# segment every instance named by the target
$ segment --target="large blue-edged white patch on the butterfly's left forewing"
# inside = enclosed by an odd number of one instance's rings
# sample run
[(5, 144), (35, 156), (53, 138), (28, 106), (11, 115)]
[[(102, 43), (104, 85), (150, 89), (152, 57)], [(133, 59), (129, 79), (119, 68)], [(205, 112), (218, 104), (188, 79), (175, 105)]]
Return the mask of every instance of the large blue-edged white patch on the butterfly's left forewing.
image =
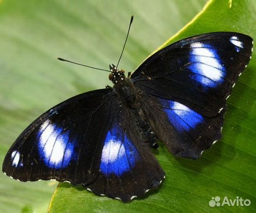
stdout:
[(55, 169), (67, 167), (75, 156), (74, 144), (68, 132), (45, 121), (38, 134), (38, 150), (46, 166)]

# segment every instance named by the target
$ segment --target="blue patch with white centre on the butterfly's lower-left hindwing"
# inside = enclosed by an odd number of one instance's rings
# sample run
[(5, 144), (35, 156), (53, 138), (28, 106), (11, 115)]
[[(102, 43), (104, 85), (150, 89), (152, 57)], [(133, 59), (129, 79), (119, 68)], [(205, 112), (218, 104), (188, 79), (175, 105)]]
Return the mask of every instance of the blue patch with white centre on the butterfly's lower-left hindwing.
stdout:
[(120, 177), (136, 165), (139, 153), (132, 141), (123, 133), (118, 124), (112, 125), (104, 141), (101, 154), (100, 171), (109, 177)]

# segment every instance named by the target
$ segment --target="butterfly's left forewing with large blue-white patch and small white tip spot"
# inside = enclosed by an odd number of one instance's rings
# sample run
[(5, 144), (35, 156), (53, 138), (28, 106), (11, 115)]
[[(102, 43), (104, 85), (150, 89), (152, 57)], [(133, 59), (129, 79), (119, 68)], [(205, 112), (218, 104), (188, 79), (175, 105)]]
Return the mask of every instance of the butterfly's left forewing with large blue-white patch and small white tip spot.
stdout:
[(13, 143), (4, 158), (3, 172), (20, 181), (93, 182), (113, 116), (112, 102), (112, 89), (102, 89), (48, 110)]

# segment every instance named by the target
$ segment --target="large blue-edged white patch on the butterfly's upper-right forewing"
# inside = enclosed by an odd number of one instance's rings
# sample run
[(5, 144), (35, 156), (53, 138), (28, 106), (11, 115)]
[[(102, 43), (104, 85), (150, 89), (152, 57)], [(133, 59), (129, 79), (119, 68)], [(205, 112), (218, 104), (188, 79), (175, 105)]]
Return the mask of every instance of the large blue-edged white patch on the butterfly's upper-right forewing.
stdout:
[(217, 87), (223, 83), (225, 67), (220, 60), (216, 49), (210, 44), (195, 42), (190, 45), (190, 64), (192, 79), (199, 82), (205, 88)]

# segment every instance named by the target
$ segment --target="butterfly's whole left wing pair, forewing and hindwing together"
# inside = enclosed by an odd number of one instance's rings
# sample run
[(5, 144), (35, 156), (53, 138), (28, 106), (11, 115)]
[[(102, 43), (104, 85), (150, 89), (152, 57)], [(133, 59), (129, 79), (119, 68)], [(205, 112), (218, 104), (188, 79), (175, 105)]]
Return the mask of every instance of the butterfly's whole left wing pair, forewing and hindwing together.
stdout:
[(155, 189), (164, 177), (112, 89), (87, 92), (37, 118), (8, 150), (3, 172), (20, 181), (82, 184), (127, 202)]

